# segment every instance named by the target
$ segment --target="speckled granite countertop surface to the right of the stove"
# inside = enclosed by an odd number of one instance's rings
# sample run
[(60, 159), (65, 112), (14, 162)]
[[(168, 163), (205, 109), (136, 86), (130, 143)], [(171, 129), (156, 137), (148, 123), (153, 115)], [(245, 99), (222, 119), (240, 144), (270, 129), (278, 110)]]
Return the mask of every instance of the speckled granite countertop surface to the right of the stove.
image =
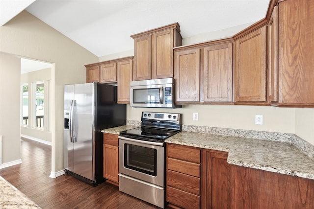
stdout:
[(226, 151), (230, 164), (314, 179), (314, 161), (289, 142), (187, 131), (165, 142)]

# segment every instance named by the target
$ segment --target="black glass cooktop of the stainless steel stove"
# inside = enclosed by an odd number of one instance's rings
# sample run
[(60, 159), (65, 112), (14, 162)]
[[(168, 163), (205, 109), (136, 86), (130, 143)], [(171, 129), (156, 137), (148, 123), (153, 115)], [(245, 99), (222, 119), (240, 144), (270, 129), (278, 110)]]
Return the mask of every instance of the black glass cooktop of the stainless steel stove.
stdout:
[(140, 140), (164, 141), (166, 138), (178, 133), (178, 130), (138, 127), (120, 132), (120, 136)]

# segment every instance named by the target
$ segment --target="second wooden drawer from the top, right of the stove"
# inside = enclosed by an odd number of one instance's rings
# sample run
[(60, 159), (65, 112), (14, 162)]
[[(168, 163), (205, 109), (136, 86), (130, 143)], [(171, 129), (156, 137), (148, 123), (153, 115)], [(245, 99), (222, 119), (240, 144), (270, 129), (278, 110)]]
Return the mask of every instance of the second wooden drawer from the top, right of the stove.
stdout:
[(196, 163), (167, 158), (167, 169), (195, 177), (200, 177), (200, 164)]

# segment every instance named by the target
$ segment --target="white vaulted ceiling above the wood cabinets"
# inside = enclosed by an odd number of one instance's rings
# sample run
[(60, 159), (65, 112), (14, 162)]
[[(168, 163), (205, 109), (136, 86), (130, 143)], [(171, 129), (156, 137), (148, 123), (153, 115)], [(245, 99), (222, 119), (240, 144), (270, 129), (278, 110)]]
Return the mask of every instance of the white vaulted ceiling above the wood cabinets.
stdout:
[[(183, 38), (265, 17), (269, 0), (0, 0), (13, 18), (26, 10), (98, 57), (133, 49), (130, 35), (180, 24)], [(8, 2), (12, 3), (12, 6)], [(21, 11), (19, 11), (21, 10)], [(11, 18), (0, 13), (1, 25)], [(208, 40), (205, 40), (208, 41)]]

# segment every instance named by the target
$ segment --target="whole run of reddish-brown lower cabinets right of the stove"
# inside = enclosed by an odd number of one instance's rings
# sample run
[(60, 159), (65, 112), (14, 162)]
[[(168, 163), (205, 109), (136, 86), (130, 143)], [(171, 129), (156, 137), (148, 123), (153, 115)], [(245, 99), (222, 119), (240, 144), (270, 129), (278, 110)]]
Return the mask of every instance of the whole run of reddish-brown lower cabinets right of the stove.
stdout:
[(227, 163), (227, 152), (166, 145), (166, 201), (183, 209), (314, 209), (314, 180)]

